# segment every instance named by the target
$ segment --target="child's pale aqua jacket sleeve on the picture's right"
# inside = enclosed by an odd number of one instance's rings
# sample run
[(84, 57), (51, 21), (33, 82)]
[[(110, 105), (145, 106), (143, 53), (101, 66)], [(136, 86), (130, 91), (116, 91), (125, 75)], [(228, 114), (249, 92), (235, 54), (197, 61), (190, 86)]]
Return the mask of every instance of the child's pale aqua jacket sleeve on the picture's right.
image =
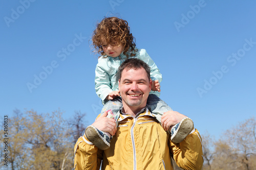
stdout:
[(140, 55), (138, 57), (145, 63), (147, 63), (151, 70), (150, 70), (150, 77), (152, 80), (159, 80), (159, 82), (162, 81), (162, 75), (160, 74), (160, 70), (158, 69), (156, 63), (152, 60), (152, 58), (147, 54), (146, 50), (141, 49)]

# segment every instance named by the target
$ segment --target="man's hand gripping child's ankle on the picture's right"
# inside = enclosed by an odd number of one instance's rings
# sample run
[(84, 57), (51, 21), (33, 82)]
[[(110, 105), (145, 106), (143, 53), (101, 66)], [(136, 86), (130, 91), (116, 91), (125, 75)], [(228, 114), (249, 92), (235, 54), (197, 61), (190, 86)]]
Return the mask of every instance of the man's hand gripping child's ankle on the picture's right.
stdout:
[(187, 117), (177, 111), (164, 112), (161, 118), (162, 127), (165, 131), (169, 130), (174, 125), (178, 124), (184, 117)]

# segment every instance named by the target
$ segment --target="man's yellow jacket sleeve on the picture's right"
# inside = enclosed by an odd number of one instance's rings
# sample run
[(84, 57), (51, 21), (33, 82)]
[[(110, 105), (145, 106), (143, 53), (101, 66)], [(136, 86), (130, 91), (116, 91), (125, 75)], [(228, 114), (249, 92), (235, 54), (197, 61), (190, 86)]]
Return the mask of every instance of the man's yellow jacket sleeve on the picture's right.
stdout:
[(202, 169), (202, 138), (196, 129), (180, 143), (170, 142), (171, 152), (177, 165), (183, 169)]

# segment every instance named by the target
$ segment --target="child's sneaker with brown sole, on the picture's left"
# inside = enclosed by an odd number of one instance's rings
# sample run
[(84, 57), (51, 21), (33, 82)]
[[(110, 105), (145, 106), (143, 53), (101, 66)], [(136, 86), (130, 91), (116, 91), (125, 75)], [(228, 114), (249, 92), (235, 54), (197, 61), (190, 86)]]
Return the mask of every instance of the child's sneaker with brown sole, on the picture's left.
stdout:
[(100, 150), (106, 150), (110, 148), (110, 138), (108, 135), (92, 125), (86, 128), (86, 137)]

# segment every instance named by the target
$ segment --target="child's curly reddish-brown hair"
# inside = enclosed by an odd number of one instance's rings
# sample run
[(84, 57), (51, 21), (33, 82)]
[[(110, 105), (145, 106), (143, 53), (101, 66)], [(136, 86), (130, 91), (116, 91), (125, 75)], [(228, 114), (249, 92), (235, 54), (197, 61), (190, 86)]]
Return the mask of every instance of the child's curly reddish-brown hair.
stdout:
[[(103, 18), (93, 32), (92, 45), (95, 49), (94, 52), (105, 55), (101, 46), (101, 39), (111, 45), (123, 45), (123, 54), (127, 58), (126, 52), (129, 51), (129, 48), (131, 47), (132, 52), (135, 50), (136, 44), (133, 35), (130, 33), (128, 22), (117, 17)], [(131, 56), (135, 56), (135, 54), (131, 54)]]

